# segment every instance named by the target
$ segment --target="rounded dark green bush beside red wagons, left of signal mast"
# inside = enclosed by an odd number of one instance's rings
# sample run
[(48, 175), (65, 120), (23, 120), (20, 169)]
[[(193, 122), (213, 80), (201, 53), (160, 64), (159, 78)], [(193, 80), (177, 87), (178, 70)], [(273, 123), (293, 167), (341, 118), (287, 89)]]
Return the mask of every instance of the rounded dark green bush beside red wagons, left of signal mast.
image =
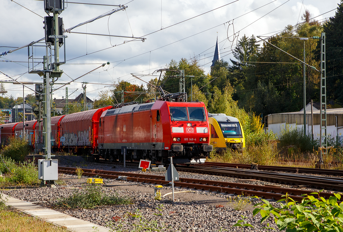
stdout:
[(21, 138), (10, 137), (9, 144), (4, 146), (1, 154), (15, 161), (23, 162), (25, 156), (30, 152), (28, 141)]

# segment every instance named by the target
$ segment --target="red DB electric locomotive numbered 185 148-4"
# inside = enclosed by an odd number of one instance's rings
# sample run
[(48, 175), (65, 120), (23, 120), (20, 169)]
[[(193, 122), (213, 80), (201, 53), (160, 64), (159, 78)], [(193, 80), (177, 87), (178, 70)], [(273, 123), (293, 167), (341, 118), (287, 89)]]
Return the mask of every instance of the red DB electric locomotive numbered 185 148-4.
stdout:
[(104, 111), (99, 119), (99, 155), (105, 159), (149, 159), (204, 163), (212, 151), (203, 102), (131, 103)]

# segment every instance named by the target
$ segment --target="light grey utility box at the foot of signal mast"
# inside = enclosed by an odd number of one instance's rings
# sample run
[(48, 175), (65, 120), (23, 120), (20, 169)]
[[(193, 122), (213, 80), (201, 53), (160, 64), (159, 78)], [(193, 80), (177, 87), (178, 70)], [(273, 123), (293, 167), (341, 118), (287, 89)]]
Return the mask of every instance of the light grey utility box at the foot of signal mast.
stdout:
[(38, 179), (55, 181), (58, 179), (58, 160), (38, 160)]

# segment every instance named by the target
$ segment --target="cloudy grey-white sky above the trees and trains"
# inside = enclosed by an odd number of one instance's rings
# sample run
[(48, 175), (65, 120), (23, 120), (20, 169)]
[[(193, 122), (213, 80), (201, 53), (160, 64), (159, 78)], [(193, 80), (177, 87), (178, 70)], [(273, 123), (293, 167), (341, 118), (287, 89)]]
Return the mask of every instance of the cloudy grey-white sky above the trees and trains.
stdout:
[[(128, 1), (73, 0), (83, 3), (120, 4), (127, 8), (125, 11), (118, 11), (77, 27), (72, 32), (143, 36), (146, 40), (124, 43), (131, 39), (66, 33), (68, 35), (65, 42), (67, 61), (60, 66), (64, 73), (57, 82), (69, 82), (99, 67), (102, 63), (110, 62), (110, 65), (101, 67), (78, 79), (78, 82), (67, 85), (69, 94), (78, 89), (69, 97), (70, 99), (82, 93), (82, 84), (79, 82), (83, 81), (90, 83), (87, 84), (86, 91), (87, 97), (92, 100), (97, 98), (99, 91), (109, 89), (105, 84), (115, 84), (124, 80), (145, 85), (144, 82), (133, 78), (130, 73), (152, 73), (161, 67), (165, 68), (171, 59), (179, 61), (181, 58), (189, 59), (197, 56), (205, 73), (208, 73), (217, 36), (221, 57), (229, 61), (229, 58), (234, 59), (231, 49), (234, 49), (236, 40), (244, 34), (249, 37), (274, 35), (288, 24), (295, 25), (301, 22), (301, 15), (305, 9), (310, 11), (312, 17), (320, 15), (317, 20), (324, 20), (334, 15), (334, 9), (340, 2), (339, 0)], [(59, 15), (63, 19), (64, 28), (70, 28), (116, 9), (113, 6), (73, 3), (68, 3), (66, 6), (67, 8)], [(9, 47), (20, 47), (44, 37), (42, 17), (47, 14), (43, 9), (43, 1), (1, 0), (0, 9), (2, 16), (0, 54), (9, 49), (13, 50)], [(192, 17), (195, 18), (191, 19)], [(176, 23), (179, 24), (174, 25)], [(45, 48), (36, 46), (33, 47), (33, 51), (36, 61), (41, 61), (38, 59), (45, 55)], [(18, 78), (26, 72), (18, 81), (42, 81), (38, 74), (27, 73), (27, 54), (27, 48), (22, 48), (6, 56), (0, 56), (0, 71), (13, 78)], [(60, 61), (63, 60), (62, 50)], [(37, 65), (36, 68), (41, 69), (42, 64)], [(0, 73), (0, 80), (10, 79)], [(150, 77), (145, 77), (143, 80), (148, 81)], [(12, 94), (18, 97), (23, 94), (22, 87), (19, 85), (5, 84), (5, 89), (8, 91), (8, 96)], [(25, 95), (30, 93), (32, 91), (25, 89)], [(62, 98), (62, 96), (65, 96), (64, 87), (55, 91), (53, 97)]]

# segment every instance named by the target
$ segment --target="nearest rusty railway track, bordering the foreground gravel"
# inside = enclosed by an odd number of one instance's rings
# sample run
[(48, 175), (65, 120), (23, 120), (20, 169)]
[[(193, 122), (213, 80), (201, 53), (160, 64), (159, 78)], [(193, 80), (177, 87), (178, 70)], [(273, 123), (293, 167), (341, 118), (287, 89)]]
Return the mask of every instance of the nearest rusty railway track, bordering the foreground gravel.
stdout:
[[(76, 174), (76, 168), (72, 167), (59, 167), (58, 171), (65, 174)], [(161, 184), (166, 185), (169, 181), (165, 181), (164, 176), (149, 175), (142, 173), (127, 173), (127, 172), (114, 172), (114, 171), (102, 171), (102, 170), (90, 170), (83, 169), (83, 176), (101, 176), (103, 178), (116, 179), (119, 176), (127, 176), (128, 181), (149, 183), (149, 184)], [(283, 199), (282, 195), (286, 193), (296, 201), (301, 201), (304, 197), (303, 194), (310, 194), (313, 191), (292, 189), (292, 188), (280, 188), (274, 186), (261, 186), (261, 185), (250, 185), (242, 183), (230, 183), (220, 181), (208, 181), (202, 179), (190, 179), (190, 178), (179, 178), (179, 182), (174, 182), (175, 187), (187, 188), (187, 189), (200, 189), (209, 192), (227, 193), (241, 195), (244, 193), (246, 196), (257, 196), (266, 199)], [(321, 197), (328, 199), (333, 196), (333, 193), (321, 192)]]

